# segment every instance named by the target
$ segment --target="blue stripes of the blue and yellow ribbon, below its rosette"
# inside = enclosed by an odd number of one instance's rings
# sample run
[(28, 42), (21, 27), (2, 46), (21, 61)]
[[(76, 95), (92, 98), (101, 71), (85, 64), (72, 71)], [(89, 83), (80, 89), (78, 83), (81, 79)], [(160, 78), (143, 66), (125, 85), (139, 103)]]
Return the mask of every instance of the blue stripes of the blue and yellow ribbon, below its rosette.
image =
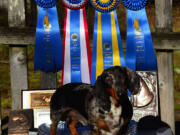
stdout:
[[(116, 15), (114, 12), (115, 29), (118, 40), (119, 56), (121, 66), (125, 66), (124, 54), (122, 49), (122, 42), (120, 36), (120, 30)], [(113, 65), (113, 49), (112, 49), (112, 25), (111, 25), (111, 13), (101, 13), (101, 33), (102, 33), (102, 52), (103, 52), (103, 70), (114, 66)], [(96, 82), (96, 64), (97, 64), (97, 35), (98, 35), (98, 11), (95, 11), (95, 23), (94, 23), (94, 35), (93, 35), (93, 50), (92, 50), (92, 68), (91, 68), (91, 84)]]

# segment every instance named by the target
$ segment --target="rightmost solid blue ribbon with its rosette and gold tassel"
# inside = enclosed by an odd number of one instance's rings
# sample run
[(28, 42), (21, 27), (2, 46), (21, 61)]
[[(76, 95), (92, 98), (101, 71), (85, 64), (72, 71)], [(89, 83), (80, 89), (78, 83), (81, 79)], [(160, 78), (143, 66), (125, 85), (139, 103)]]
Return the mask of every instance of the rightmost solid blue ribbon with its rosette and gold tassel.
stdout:
[(151, 32), (144, 8), (147, 0), (123, 0), (123, 3), (128, 8), (127, 66), (134, 71), (157, 70)]

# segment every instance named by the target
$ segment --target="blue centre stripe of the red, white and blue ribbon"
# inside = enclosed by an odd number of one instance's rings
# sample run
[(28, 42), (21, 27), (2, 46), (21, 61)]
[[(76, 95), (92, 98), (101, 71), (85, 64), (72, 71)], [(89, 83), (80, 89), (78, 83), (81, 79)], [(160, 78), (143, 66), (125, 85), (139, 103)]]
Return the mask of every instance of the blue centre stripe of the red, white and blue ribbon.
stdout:
[(70, 10), (70, 36), (71, 82), (81, 82), (80, 10)]

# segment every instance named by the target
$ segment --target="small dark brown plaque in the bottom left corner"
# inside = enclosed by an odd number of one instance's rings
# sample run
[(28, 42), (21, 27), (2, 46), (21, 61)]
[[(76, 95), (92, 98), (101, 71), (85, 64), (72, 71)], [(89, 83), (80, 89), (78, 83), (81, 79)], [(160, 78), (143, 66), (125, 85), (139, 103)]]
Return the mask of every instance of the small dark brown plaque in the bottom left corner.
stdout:
[(8, 135), (28, 135), (33, 128), (33, 110), (12, 110), (9, 115)]

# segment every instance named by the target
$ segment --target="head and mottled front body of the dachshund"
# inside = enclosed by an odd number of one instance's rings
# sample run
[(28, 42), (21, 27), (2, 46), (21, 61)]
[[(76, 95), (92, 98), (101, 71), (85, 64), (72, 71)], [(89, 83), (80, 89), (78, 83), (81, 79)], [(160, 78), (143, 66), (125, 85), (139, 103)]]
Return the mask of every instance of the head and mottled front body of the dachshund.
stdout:
[(140, 76), (127, 67), (111, 67), (97, 78), (87, 95), (86, 112), (92, 135), (125, 135), (133, 115), (128, 98), (139, 93)]

